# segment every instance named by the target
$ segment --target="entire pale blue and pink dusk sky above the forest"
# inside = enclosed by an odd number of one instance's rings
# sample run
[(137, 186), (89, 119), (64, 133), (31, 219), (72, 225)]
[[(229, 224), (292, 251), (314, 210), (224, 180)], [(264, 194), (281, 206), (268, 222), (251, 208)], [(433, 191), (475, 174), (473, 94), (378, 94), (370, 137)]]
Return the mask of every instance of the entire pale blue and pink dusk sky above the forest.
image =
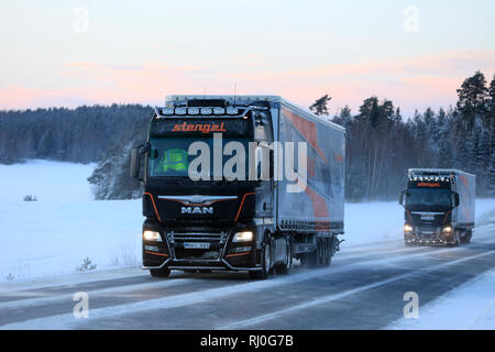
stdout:
[(329, 94), (331, 113), (377, 96), (409, 116), (454, 105), (477, 69), (493, 78), (494, 14), (493, 0), (0, 0), (0, 109), (163, 105), (237, 82), (306, 107)]

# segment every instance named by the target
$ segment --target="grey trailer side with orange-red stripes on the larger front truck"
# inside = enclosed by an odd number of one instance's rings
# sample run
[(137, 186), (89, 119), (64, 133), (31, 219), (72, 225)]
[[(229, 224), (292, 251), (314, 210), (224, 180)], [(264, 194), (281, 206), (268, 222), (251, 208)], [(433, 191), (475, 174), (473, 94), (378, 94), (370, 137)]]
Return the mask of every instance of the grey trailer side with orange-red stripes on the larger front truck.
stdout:
[[(316, 226), (332, 232), (343, 232), (345, 132), (321, 119), (283, 102), (278, 119), (278, 141), (307, 144), (306, 188), (287, 191), (284, 180), (278, 183), (277, 221), (282, 228)], [(295, 156), (297, 165), (297, 153)]]

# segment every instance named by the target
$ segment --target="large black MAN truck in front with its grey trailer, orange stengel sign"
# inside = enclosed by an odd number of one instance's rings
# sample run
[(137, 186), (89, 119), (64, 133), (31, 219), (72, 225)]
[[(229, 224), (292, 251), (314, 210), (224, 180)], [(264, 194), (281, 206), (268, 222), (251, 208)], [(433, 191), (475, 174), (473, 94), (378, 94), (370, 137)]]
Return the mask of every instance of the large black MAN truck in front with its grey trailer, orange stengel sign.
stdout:
[[(144, 139), (144, 136), (143, 136)], [(343, 234), (345, 130), (277, 96), (168, 96), (131, 153), (143, 268), (286, 274)]]

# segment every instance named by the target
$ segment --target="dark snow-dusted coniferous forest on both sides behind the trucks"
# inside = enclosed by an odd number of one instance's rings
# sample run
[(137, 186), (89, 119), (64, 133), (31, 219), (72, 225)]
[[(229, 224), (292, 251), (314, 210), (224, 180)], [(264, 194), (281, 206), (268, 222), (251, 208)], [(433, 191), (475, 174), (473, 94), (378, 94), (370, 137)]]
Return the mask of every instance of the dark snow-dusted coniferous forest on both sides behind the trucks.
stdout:
[[(348, 201), (396, 199), (409, 167), (463, 169), (477, 176), (477, 196), (495, 196), (495, 76), (488, 82), (476, 72), (457, 95), (454, 107), (411, 117), (376, 97), (359, 111), (333, 114), (331, 95), (317, 99), (310, 109), (346, 129)], [(0, 111), (0, 163), (95, 162), (88, 180), (97, 199), (140, 197), (129, 154), (144, 142), (152, 111), (140, 105)]]

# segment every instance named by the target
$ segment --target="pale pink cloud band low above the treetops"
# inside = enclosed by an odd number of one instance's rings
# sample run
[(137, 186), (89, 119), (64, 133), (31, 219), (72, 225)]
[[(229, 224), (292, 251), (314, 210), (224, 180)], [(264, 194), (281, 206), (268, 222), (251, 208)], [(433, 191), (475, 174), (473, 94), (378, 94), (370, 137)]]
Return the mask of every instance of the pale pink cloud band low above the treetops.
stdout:
[[(250, 65), (252, 63), (252, 65)], [(457, 101), (463, 79), (482, 70), (487, 80), (495, 72), (495, 51), (450, 51), (435, 55), (362, 59), (308, 69), (282, 70), (263, 65), (263, 57), (246, 57), (229, 67), (168, 65), (146, 62), (114, 65), (96, 62), (67, 63), (58, 73), (69, 89), (0, 89), (0, 108), (75, 106), (81, 102), (157, 103), (168, 94), (280, 95), (301, 106), (330, 94), (331, 112), (350, 105), (356, 111), (370, 96), (387, 98), (411, 113), (448, 107)]]

